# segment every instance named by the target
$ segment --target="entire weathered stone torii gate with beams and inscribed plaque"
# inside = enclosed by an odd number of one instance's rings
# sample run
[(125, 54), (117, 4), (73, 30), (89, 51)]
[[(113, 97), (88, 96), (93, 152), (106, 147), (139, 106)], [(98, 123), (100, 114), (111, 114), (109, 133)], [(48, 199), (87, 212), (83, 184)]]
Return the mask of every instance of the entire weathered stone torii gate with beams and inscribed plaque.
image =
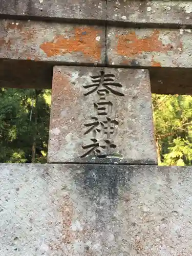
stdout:
[(0, 164), (1, 256), (192, 255), (192, 169), (151, 93), (191, 94), (192, 1), (1, 0), (1, 87), (52, 88), (48, 164)]

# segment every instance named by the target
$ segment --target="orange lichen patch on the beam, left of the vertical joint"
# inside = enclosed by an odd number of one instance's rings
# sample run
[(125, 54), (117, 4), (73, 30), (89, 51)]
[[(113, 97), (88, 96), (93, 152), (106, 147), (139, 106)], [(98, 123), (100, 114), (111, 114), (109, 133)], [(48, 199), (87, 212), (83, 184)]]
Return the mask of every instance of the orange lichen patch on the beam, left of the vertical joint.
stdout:
[(40, 48), (48, 57), (82, 52), (84, 55), (98, 61), (101, 58), (101, 44), (96, 40), (96, 37), (100, 34), (101, 31), (94, 30), (93, 28), (76, 28), (74, 29), (74, 35), (70, 38), (57, 35), (52, 42), (41, 44)]

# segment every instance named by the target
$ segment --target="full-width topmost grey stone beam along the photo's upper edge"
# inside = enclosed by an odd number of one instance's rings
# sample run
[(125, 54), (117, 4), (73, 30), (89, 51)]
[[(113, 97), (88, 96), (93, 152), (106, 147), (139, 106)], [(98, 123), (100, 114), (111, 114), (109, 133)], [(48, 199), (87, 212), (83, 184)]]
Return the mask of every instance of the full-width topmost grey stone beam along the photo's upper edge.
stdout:
[(37, 19), (98, 20), (130, 26), (191, 25), (192, 1), (160, 0), (2, 0), (0, 15)]

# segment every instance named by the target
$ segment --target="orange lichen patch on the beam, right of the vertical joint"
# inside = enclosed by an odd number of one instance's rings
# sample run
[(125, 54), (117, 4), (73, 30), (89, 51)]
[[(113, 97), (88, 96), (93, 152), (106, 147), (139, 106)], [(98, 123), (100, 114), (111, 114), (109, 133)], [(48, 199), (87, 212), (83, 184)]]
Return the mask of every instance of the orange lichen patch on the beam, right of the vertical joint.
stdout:
[(133, 31), (127, 35), (118, 37), (117, 54), (126, 56), (135, 56), (142, 52), (168, 52), (173, 46), (171, 44), (163, 45), (159, 40), (159, 31), (155, 30), (150, 36), (145, 38), (137, 37)]

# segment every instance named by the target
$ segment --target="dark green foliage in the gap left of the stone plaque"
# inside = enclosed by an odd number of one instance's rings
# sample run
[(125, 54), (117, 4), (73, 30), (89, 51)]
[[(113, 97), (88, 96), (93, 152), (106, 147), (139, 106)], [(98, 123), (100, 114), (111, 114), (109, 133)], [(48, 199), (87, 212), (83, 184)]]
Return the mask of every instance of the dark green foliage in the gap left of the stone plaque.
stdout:
[[(37, 100), (38, 99), (38, 100)], [(50, 90), (0, 89), (0, 162), (47, 161)]]

